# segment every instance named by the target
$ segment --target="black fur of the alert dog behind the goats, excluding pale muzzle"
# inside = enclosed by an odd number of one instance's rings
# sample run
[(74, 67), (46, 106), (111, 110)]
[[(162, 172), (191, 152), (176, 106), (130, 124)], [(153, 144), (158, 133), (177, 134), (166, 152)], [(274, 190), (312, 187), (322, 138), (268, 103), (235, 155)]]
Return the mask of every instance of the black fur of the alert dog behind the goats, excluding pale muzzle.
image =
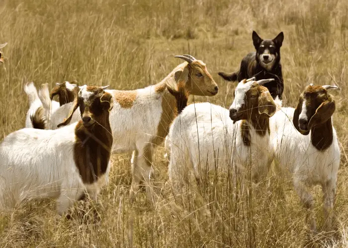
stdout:
[[(284, 84), (280, 64), (280, 47), (283, 40), (283, 32), (280, 32), (273, 40), (262, 40), (261, 37), (253, 31), (253, 43), (256, 52), (249, 53), (243, 58), (239, 71), (232, 73), (220, 71), (218, 74), (225, 80), (238, 82), (243, 79), (252, 78), (253, 76), (256, 77), (256, 80), (274, 78), (274, 81), (265, 83), (263, 86), (267, 87), (273, 99), (275, 99), (276, 96), (281, 99)], [(275, 56), (273, 65), (270, 68), (266, 68), (267, 64), (260, 61), (260, 55), (267, 49), (270, 56)]]

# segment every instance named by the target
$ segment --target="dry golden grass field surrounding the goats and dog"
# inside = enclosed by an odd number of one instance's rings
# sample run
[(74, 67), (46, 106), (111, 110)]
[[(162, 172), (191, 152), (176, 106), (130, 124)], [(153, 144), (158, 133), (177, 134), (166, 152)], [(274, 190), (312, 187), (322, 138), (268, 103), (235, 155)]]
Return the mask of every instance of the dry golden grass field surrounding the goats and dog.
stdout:
[[(332, 94), (342, 152), (338, 231), (314, 239), (307, 236), (299, 197), (274, 173), (270, 186), (253, 185), (249, 195), (236, 197), (228, 179), (218, 179), (174, 199), (161, 146), (154, 158), (162, 194), (156, 204), (147, 203), (143, 191), (129, 204), (130, 154), (113, 156), (110, 183), (93, 205), (98, 219), (82, 202), (74, 212), (90, 212), (72, 220), (56, 214), (54, 201), (26, 202), (1, 215), (0, 247), (348, 247), (347, 0), (1, 0), (0, 17), (0, 44), (8, 42), (0, 65), (0, 140), (24, 127), (27, 81), (136, 89), (159, 82), (182, 62), (174, 55), (205, 62), (219, 86), (216, 96), (195, 101), (229, 107), (235, 84), (217, 72), (237, 69), (254, 51), (256, 30), (262, 38), (284, 32), (283, 105), (295, 107), (309, 83), (341, 88)], [(315, 192), (320, 230), (321, 188)]]

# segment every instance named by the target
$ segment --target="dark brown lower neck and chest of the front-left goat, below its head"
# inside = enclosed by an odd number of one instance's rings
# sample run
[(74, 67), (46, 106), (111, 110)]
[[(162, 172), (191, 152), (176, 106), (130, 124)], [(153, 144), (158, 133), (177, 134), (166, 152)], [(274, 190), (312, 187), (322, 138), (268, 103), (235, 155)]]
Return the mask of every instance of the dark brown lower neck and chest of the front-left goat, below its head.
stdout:
[(87, 130), (80, 121), (75, 127), (74, 161), (84, 184), (92, 184), (104, 175), (110, 159), (112, 134), (110, 124), (96, 124)]

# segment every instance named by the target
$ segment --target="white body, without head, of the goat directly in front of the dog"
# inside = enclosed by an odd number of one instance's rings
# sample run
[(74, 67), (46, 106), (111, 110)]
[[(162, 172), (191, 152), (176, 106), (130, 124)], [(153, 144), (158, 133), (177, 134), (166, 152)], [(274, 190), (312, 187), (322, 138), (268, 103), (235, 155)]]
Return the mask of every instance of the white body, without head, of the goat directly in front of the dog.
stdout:
[[(170, 150), (169, 178), (179, 182), (182, 171), (193, 169), (195, 177), (207, 171), (237, 167), (246, 172), (251, 163), (254, 177), (265, 175), (273, 160), (269, 135), (260, 136), (250, 125), (251, 145), (243, 143), (241, 124), (233, 124), (229, 111), (210, 103), (187, 106), (175, 118), (166, 139)], [(251, 161), (250, 161), (251, 158)]]

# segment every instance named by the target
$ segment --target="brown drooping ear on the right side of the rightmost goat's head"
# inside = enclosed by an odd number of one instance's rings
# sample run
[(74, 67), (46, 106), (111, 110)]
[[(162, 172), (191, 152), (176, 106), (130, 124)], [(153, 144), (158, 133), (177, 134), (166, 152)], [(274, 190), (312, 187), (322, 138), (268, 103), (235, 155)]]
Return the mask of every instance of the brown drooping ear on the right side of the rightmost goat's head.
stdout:
[(328, 100), (326, 100), (319, 106), (319, 108), (315, 111), (315, 114), (312, 116), (311, 120), (309, 120), (308, 129), (310, 130), (317, 124), (325, 123), (334, 114), (335, 109), (335, 100), (332, 97), (329, 97)]

